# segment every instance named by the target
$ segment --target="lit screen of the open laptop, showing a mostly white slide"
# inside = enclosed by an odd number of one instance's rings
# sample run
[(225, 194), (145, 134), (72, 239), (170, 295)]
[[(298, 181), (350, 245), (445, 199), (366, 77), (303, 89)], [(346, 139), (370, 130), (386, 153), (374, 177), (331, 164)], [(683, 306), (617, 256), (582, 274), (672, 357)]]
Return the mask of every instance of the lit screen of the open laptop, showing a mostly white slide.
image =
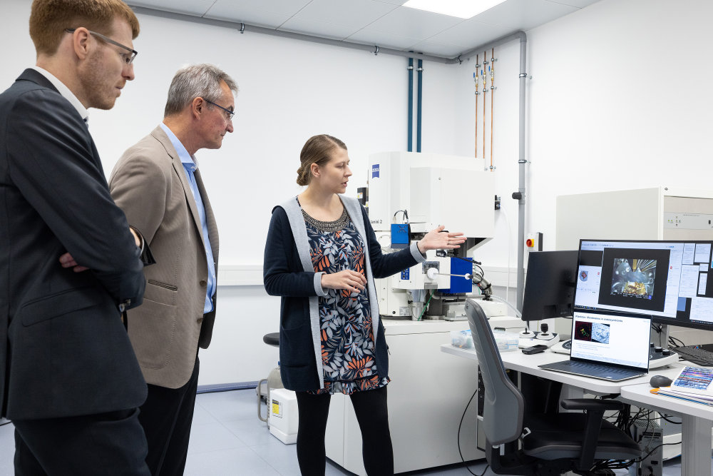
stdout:
[(647, 315), (575, 310), (570, 358), (648, 370), (650, 326)]

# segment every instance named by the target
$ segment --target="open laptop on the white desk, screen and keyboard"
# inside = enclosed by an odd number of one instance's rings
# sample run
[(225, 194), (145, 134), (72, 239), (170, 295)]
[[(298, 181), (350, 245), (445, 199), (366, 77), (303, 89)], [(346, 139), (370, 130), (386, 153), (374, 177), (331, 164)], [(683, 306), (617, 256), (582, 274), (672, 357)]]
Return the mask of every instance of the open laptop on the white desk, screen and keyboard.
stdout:
[(575, 310), (570, 359), (539, 367), (612, 382), (647, 375), (650, 327), (649, 315)]

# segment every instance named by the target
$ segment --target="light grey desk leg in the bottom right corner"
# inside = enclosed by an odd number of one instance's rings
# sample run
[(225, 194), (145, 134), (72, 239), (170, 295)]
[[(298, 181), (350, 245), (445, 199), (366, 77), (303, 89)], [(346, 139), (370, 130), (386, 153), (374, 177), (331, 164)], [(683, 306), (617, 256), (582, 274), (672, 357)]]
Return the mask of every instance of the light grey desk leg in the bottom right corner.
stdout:
[(682, 415), (681, 476), (711, 474), (711, 430), (713, 422)]

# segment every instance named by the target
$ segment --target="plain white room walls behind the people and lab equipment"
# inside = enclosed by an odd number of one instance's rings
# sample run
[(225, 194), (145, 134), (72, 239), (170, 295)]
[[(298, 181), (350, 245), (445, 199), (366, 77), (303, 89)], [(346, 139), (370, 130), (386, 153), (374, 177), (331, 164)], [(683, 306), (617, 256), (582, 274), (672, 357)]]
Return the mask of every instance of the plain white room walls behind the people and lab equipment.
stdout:
[[(0, 7), (6, 37), (13, 39), (2, 87), (34, 59), (29, 3), (4, 0)], [(526, 231), (542, 231), (545, 249), (554, 248), (560, 194), (707, 188), (713, 93), (705, 82), (713, 66), (704, 31), (712, 17), (708, 0), (601, 0), (528, 31)], [(366, 182), (369, 153), (406, 147), (404, 58), (139, 19), (137, 79), (113, 111), (91, 111), (91, 131), (108, 174), (120, 153), (160, 121), (180, 66), (212, 62), (237, 80), (235, 133), (220, 151), (198, 153), (220, 226), (222, 265), (262, 262), (270, 209), (299, 190), (294, 171), (309, 136), (344, 139), (354, 165), (352, 191)], [(503, 210), (496, 239), (476, 253), (486, 267), (505, 268), (508, 256), (512, 268), (516, 263), (517, 202), (510, 196), (518, 188), (518, 56), (516, 41), (496, 49), (493, 159)], [(424, 62), (424, 152), (473, 156), (474, 63)], [(482, 102), (479, 109), (481, 115)], [(488, 144), (489, 130), (488, 122)], [(489, 146), (486, 156), (489, 165)], [(636, 204), (627, 206), (635, 213)], [(222, 286), (213, 343), (201, 352), (200, 383), (267, 375), (277, 350), (263, 344), (262, 335), (277, 330), (278, 312), (279, 300), (261, 286)]]

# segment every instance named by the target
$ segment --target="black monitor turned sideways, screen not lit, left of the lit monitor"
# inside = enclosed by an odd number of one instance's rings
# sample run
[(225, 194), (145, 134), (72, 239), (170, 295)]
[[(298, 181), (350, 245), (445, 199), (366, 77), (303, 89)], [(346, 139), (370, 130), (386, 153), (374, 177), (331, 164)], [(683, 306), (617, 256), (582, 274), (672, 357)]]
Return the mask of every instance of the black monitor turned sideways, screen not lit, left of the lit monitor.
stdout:
[(523, 320), (572, 315), (577, 256), (577, 250), (530, 253), (523, 295)]

